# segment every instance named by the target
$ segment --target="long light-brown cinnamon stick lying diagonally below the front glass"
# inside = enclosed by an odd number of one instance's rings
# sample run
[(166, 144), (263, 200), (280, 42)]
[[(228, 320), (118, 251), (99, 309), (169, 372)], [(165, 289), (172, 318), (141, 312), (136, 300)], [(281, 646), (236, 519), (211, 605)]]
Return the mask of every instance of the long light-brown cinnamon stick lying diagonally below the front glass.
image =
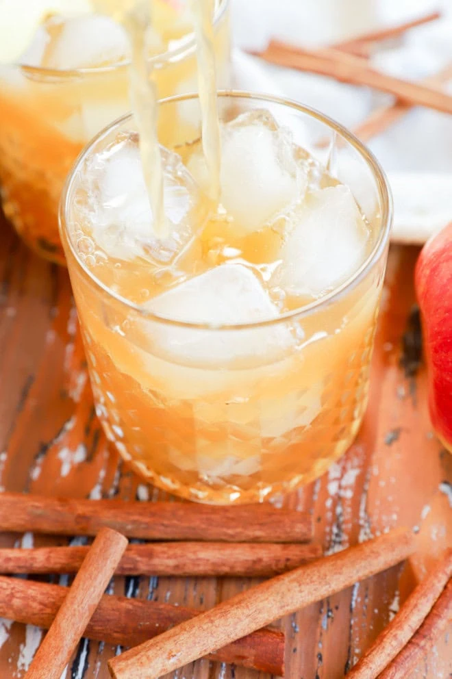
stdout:
[(112, 658), (108, 663), (110, 673), (115, 679), (156, 679), (303, 606), (351, 587), (357, 580), (406, 559), (413, 551), (412, 535), (394, 530), (266, 580), (196, 619)]

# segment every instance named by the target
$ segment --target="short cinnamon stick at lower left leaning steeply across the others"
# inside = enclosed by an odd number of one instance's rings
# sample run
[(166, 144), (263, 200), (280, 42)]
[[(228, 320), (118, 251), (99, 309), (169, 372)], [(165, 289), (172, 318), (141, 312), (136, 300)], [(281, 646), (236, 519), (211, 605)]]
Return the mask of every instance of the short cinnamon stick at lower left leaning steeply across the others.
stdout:
[(86, 555), (25, 679), (60, 679), (127, 547), (116, 530), (103, 528)]

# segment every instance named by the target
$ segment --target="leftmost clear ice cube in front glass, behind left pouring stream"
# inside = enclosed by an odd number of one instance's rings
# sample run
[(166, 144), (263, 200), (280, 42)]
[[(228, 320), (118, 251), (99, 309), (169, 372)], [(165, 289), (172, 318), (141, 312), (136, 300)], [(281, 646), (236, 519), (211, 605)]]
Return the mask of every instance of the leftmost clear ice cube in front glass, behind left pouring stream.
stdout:
[[(153, 232), (153, 216), (142, 174), (138, 140), (127, 137), (86, 167), (91, 237), (110, 257), (145, 257), (168, 264), (188, 244), (205, 218), (199, 188), (179, 155), (162, 149), (164, 205), (170, 233)], [(90, 182), (90, 175), (92, 181)]]

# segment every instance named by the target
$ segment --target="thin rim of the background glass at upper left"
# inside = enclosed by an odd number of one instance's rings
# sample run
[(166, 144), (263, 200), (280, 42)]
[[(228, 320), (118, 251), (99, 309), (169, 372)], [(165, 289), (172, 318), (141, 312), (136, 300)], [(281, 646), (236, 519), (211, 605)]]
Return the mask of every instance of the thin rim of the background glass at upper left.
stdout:
[[(216, 28), (218, 23), (223, 18), (230, 0), (219, 0), (218, 7), (214, 12), (213, 25)], [(166, 51), (156, 54), (149, 59), (149, 64), (153, 66), (158, 66), (159, 64), (166, 64), (170, 60), (186, 59), (196, 50), (196, 38), (194, 33), (188, 33), (181, 40), (185, 40), (178, 47), (173, 49), (166, 49)], [(27, 64), (20, 64), (18, 62), (12, 62), (11, 66), (16, 68), (21, 68), (25, 73), (29, 75), (42, 75), (46, 77), (59, 77), (59, 78), (75, 78), (84, 75), (99, 75), (102, 73), (112, 73), (119, 68), (128, 68), (130, 65), (130, 60), (124, 60), (123, 62), (116, 62), (116, 64), (108, 64), (108, 66), (86, 66), (84, 68), (46, 68), (45, 66), (27, 66)], [(162, 100), (163, 101), (163, 100)]]

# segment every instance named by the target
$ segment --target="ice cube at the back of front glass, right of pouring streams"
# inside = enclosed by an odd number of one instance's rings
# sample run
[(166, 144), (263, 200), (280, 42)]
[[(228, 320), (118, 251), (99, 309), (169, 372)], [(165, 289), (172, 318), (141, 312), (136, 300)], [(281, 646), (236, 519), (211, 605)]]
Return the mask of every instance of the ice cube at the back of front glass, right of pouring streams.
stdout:
[[(288, 129), (266, 111), (254, 110), (221, 127), (221, 204), (246, 235), (269, 225), (305, 192)], [(201, 188), (206, 170), (201, 149), (188, 168)]]

